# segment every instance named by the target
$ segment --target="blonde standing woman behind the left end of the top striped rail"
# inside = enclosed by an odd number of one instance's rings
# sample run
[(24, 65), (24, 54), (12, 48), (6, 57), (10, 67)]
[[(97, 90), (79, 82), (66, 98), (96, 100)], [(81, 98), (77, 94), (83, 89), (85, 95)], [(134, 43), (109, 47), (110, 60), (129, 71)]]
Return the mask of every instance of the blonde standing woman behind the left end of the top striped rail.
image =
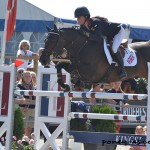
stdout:
[[(30, 71), (23, 72), (22, 80), (19, 81), (17, 87), (20, 88), (20, 90), (34, 90)], [(16, 98), (16, 102), (21, 107), (21, 110), (25, 116), (24, 135), (28, 136), (28, 138), (30, 139), (32, 128), (34, 127), (35, 96), (19, 96)]]

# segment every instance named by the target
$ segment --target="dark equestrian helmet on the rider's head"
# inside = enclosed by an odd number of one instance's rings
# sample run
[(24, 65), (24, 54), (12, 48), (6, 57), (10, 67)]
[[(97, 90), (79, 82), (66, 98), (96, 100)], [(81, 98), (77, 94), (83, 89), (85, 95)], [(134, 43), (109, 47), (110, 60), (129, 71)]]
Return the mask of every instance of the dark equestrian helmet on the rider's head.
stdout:
[(86, 7), (78, 7), (74, 12), (74, 16), (75, 18), (78, 18), (80, 16), (90, 18), (90, 12)]

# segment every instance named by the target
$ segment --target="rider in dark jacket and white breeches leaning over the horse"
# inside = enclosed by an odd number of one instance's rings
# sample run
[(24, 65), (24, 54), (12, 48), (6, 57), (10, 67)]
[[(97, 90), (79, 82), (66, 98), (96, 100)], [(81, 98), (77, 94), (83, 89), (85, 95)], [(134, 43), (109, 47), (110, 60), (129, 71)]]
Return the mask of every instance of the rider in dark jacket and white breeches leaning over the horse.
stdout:
[(108, 22), (106, 18), (101, 19), (101, 17), (90, 18), (90, 12), (86, 7), (76, 8), (74, 16), (77, 18), (82, 33), (87, 36), (89, 40), (98, 41), (100, 43), (102, 36), (113, 38), (112, 50), (121, 68), (120, 78), (126, 78), (127, 73), (124, 68), (123, 58), (118, 50), (125, 34), (125, 30), (121, 24)]

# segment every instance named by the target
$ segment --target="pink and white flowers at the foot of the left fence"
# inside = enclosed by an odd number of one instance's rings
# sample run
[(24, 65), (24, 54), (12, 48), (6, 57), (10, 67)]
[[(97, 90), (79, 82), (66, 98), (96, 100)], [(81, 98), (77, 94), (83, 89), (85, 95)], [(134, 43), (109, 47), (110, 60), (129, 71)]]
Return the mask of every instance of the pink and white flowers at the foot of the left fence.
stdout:
[[(0, 142), (5, 146), (6, 139), (0, 138)], [(27, 136), (24, 136), (22, 140), (17, 140), (16, 136), (13, 136), (11, 150), (34, 150), (34, 140)]]

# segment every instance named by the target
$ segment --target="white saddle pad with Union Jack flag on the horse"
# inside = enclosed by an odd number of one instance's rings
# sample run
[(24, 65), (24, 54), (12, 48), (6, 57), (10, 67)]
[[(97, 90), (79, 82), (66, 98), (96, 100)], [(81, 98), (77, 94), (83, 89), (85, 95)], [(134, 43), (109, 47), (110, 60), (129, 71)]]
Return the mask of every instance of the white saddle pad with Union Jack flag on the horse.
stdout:
[[(107, 48), (106, 39), (104, 39), (104, 51), (109, 64), (114, 63), (110, 55), (109, 49)], [(137, 64), (137, 57), (135, 51), (131, 49), (129, 46), (128, 48), (125, 49), (125, 56), (123, 58), (123, 61), (124, 61), (124, 66), (135, 66)]]

